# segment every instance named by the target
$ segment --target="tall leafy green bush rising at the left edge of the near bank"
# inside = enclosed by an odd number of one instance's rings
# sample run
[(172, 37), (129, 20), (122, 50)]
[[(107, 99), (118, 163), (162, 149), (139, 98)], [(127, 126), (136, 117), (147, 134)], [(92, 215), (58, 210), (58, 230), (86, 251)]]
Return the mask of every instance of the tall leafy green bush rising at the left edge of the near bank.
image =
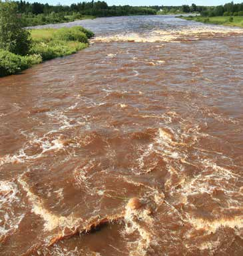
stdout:
[(11, 1), (0, 1), (0, 49), (26, 55), (31, 47), (28, 31), (21, 28), (17, 16), (17, 5)]

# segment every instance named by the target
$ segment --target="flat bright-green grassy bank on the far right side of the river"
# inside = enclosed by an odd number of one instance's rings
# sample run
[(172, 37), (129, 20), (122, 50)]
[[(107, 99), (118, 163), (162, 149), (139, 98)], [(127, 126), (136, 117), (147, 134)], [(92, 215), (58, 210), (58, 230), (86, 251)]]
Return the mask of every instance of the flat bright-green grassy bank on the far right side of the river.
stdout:
[(187, 21), (199, 21), (202, 23), (210, 23), (216, 25), (226, 25), (226, 26), (237, 26), (243, 27), (243, 16), (216, 16), (216, 17), (179, 17), (180, 19), (186, 19)]

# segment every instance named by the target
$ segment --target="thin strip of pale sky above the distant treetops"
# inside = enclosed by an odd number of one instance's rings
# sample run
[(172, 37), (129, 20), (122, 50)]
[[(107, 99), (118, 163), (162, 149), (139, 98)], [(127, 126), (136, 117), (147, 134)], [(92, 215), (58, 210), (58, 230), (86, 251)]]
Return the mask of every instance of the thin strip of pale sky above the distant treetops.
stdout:
[[(39, 3), (49, 3), (51, 5), (56, 5), (61, 3), (61, 5), (71, 5), (71, 3), (80, 3), (83, 1), (91, 0), (26, 0), (29, 2), (39, 2)], [(101, 0), (102, 1), (102, 0)], [(105, 0), (108, 5), (191, 5), (195, 3), (196, 5), (224, 5), (224, 3), (229, 3), (231, 0)], [(242, 3), (243, 0), (236, 0), (234, 3)]]

